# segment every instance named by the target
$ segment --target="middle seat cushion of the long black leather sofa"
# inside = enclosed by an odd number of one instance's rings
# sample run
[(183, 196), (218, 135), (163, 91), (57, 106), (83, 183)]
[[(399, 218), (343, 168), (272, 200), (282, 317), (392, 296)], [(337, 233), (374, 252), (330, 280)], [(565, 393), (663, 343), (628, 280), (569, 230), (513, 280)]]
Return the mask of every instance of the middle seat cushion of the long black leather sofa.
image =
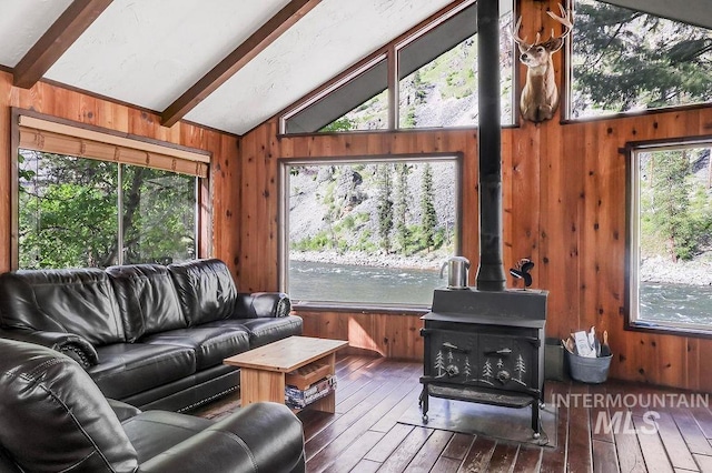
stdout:
[(202, 370), (249, 350), (249, 339), (247, 329), (239, 324), (218, 328), (199, 325), (145, 336), (141, 343), (178, 345), (195, 350), (196, 366)]

